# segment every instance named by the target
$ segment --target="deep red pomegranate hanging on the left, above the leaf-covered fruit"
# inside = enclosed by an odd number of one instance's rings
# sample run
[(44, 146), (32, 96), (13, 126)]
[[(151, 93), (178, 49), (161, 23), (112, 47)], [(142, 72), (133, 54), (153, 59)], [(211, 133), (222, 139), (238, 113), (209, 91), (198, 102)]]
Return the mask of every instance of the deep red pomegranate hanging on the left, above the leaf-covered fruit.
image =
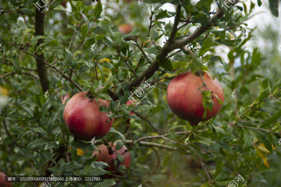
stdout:
[[(110, 101), (97, 98), (100, 105), (109, 106)], [(89, 101), (92, 102), (89, 102)], [(104, 137), (110, 130), (114, 119), (110, 122), (108, 113), (101, 113), (91, 91), (76, 93), (66, 104), (63, 119), (71, 134), (85, 141), (96, 137)], [(107, 122), (108, 123), (107, 123)]]

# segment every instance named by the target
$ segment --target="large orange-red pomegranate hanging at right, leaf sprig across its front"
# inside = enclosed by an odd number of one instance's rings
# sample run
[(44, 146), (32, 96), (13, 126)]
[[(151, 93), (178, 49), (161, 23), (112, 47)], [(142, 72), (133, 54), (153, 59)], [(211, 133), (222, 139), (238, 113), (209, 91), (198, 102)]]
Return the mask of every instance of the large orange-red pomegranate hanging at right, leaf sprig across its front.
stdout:
[[(218, 95), (218, 98), (224, 102), (224, 91), (218, 79), (212, 79), (207, 71), (202, 71), (202, 77), (210, 91)], [(191, 74), (190, 71), (178, 74), (171, 80), (167, 88), (167, 102), (173, 113), (190, 122), (191, 126), (198, 125), (199, 122), (206, 121), (219, 113), (222, 104), (219, 104), (217, 98), (213, 98), (213, 109), (207, 109), (207, 115), (203, 117), (203, 96), (200, 90), (207, 90), (198, 72)], [(200, 87), (202, 86), (202, 87)], [(200, 87), (200, 89), (199, 89)], [(212, 96), (211, 96), (212, 97)]]

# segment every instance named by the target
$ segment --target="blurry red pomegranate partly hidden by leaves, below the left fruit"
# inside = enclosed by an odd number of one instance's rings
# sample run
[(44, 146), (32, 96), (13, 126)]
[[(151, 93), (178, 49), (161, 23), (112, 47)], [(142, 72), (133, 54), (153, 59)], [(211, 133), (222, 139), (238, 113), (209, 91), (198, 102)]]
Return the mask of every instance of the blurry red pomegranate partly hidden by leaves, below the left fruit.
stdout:
[[(130, 162), (131, 162), (131, 155), (130, 155), (129, 151), (124, 153), (124, 151), (127, 150), (127, 147), (123, 146), (121, 149), (116, 151), (116, 149), (115, 149), (116, 144), (117, 144), (116, 142), (113, 143), (113, 146), (111, 146), (111, 142), (108, 142), (108, 144), (111, 147), (113, 154), (110, 154), (110, 151), (107, 149), (107, 147), (104, 144), (101, 144), (100, 146), (97, 147), (99, 150), (101, 150), (101, 154), (99, 154), (99, 151), (94, 151), (92, 153), (92, 157), (96, 155), (98, 162), (102, 161), (102, 162), (107, 163), (110, 166), (110, 168), (106, 167), (104, 169), (106, 171), (115, 171), (119, 165), (125, 165), (126, 168), (128, 168), (130, 166)], [(122, 153), (124, 153), (122, 156), (125, 159), (125, 161), (122, 163), (117, 159), (117, 164), (118, 164), (117, 167), (115, 167), (114, 163), (112, 162), (117, 158), (115, 153), (119, 153), (120, 155), (122, 155)]]

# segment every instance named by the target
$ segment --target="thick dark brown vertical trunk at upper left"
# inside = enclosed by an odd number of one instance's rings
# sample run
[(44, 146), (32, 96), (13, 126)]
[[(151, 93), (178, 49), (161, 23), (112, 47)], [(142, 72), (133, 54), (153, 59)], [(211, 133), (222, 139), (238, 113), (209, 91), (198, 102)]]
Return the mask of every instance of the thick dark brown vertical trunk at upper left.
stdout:
[[(43, 6), (44, 3), (41, 2), (41, 6)], [(43, 7), (44, 8), (44, 7)], [(45, 20), (45, 12), (41, 13), (43, 8), (40, 8), (40, 11), (35, 10), (35, 22), (34, 22), (34, 36), (44, 36), (44, 20)], [(37, 46), (40, 44), (44, 43), (44, 39), (39, 39), (37, 41), (37, 44), (35, 46), (35, 49)], [(41, 55), (35, 54), (39, 59), (45, 60), (44, 54), (42, 53)], [(41, 88), (43, 92), (46, 92), (49, 89), (49, 80), (48, 80), (48, 75), (47, 75), (47, 66), (42, 63), (41, 60), (35, 59), (36, 61), (36, 66), (38, 70), (38, 75), (39, 75), (39, 81), (41, 84)]]

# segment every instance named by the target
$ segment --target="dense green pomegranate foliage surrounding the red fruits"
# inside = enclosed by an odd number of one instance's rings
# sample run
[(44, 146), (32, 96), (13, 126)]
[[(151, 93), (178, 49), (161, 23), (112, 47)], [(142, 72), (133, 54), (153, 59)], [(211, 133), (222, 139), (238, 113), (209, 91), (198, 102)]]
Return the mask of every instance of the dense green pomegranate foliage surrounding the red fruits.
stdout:
[[(44, 36), (35, 30), (34, 22), (41, 13), (34, 6), (36, 0), (0, 2), (2, 172), (112, 176), (114, 172), (104, 170), (107, 164), (96, 162), (91, 154), (98, 150), (97, 144), (117, 141), (119, 147), (126, 144), (131, 153), (130, 168), (118, 167), (122, 176), (103, 183), (65, 182), (57, 187), (141, 183), (219, 187), (238, 174), (249, 186), (280, 182), (265, 173), (280, 170), (276, 155), (281, 151), (277, 148), (281, 79), (267, 79), (262, 68), (267, 59), (258, 48), (245, 48), (253, 37), (245, 23), (253, 14), (253, 2), (248, 9), (241, 2), (230, 13), (231, 8), (218, 9), (210, 0), (144, 0), (139, 5), (136, 1), (72, 0), (67, 9), (62, 2), (56, 0), (42, 13)], [(166, 3), (177, 7), (176, 12), (163, 10)], [(257, 3), (261, 6), (259, 0)], [(277, 0), (269, 5), (278, 16)], [(216, 6), (214, 12), (211, 6)], [(169, 17), (175, 17), (177, 24), (163, 21)], [(133, 25), (130, 33), (119, 32), (124, 24)], [(163, 36), (164, 45), (160, 42)], [(188, 46), (190, 50), (185, 50)], [(224, 49), (227, 58), (218, 48)], [(35, 61), (39, 55), (47, 66), (48, 85), (41, 84), (42, 73)], [(209, 71), (225, 93), (219, 114), (195, 127), (176, 117), (166, 103), (170, 80), (187, 70)], [(131, 93), (145, 80), (153, 90), (146, 89), (149, 94), (139, 98), (137, 107), (127, 106)], [(81, 90), (111, 101), (100, 111), (111, 112), (108, 117), (115, 121), (95, 145), (74, 138), (62, 117), (61, 97)], [(237, 96), (232, 98), (234, 90)], [(213, 106), (210, 95), (211, 90), (198, 96), (205, 98), (206, 111)], [(187, 137), (190, 143), (185, 145)], [(122, 155), (118, 157), (122, 160)]]

